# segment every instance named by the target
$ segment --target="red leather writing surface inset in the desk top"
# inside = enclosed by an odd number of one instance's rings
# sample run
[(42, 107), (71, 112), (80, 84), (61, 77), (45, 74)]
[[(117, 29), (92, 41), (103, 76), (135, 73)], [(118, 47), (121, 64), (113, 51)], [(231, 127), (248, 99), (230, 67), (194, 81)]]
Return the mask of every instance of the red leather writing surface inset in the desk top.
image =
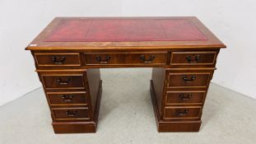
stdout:
[(189, 19), (67, 19), (45, 42), (207, 40)]

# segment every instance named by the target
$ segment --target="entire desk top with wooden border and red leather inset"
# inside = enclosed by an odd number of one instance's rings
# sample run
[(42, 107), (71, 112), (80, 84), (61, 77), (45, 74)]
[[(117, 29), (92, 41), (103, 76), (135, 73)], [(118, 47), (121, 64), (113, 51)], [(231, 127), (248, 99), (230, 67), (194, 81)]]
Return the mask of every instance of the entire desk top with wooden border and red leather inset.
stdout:
[(226, 48), (196, 17), (57, 17), (26, 49)]

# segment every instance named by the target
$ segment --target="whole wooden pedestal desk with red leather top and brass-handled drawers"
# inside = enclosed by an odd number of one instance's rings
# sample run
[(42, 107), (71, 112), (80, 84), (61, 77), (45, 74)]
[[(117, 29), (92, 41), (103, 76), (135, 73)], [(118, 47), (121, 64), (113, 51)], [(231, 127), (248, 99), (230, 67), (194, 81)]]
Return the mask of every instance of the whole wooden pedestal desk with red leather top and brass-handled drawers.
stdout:
[(226, 48), (196, 17), (57, 17), (28, 46), (55, 133), (96, 132), (100, 68), (153, 67), (158, 132), (198, 132)]

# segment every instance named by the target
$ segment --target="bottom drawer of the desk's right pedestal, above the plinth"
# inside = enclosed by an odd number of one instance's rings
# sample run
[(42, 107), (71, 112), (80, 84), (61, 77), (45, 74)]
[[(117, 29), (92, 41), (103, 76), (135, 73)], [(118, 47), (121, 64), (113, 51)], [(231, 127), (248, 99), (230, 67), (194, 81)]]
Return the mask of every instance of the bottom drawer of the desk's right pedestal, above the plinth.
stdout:
[(165, 107), (164, 119), (179, 119), (179, 118), (200, 118), (200, 106), (194, 107)]

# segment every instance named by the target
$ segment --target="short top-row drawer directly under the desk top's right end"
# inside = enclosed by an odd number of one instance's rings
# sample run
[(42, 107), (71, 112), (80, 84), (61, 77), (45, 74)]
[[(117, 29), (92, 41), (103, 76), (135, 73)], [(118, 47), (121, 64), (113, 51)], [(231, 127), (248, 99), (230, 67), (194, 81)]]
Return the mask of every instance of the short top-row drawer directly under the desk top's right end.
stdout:
[(171, 65), (214, 65), (217, 52), (172, 52)]

